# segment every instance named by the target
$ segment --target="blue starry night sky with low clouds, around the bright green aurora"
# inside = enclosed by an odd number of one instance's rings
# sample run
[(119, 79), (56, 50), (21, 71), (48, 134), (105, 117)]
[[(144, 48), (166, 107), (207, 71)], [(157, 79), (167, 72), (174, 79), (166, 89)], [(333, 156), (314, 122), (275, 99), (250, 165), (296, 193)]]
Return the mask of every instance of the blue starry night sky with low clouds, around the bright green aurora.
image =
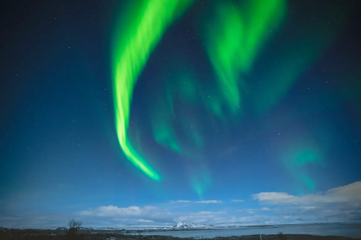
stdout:
[[(174, 103), (204, 140), (195, 149), (181, 135), (191, 154), (179, 154), (156, 142), (150, 109), (180, 62), (202, 86), (216, 78), (196, 27), (213, 3), (196, 1), (168, 28), (133, 93), (130, 139), (160, 182), (135, 168), (117, 140), (110, 38), (124, 5), (116, 2), (32, 1), (2, 10), (0, 225), (58, 226), (70, 217), (88, 226), (361, 220), (358, 1), (327, 8), (288, 1), (286, 20), (245, 76), (240, 116), (224, 122)], [(272, 80), (287, 71), (282, 61), (307, 54), (290, 87)], [(182, 131), (184, 118), (174, 121)], [(201, 196), (194, 178), (208, 179)]]

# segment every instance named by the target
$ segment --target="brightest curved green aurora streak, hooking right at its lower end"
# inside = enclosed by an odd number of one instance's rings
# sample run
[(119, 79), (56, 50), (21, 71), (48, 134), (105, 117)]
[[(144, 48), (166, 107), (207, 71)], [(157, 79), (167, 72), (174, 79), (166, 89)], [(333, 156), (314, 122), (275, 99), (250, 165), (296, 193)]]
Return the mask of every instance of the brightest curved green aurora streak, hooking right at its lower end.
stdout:
[(126, 157), (153, 180), (160, 175), (136, 152), (127, 137), (130, 102), (136, 80), (164, 31), (192, 0), (134, 1), (129, 21), (121, 22), (113, 39), (113, 91), (116, 130)]

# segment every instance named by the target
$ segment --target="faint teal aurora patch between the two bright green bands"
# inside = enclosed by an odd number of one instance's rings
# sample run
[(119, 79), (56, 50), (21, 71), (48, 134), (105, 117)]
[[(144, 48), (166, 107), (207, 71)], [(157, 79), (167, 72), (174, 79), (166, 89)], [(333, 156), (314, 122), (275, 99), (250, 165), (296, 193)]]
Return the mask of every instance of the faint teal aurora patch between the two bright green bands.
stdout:
[[(170, 73), (166, 74), (165, 94), (158, 94), (151, 106), (151, 125), (158, 144), (177, 153), (193, 155), (187, 150), (192, 146), (202, 146), (203, 140), (197, 128), (199, 124), (196, 124), (196, 114), (193, 112), (194, 114), (190, 115), (188, 112), (191, 110), (190, 106), (199, 101), (201, 89), (195, 73), (186, 66), (187, 64), (179, 61)], [(184, 106), (187, 111), (176, 108), (176, 103)], [(175, 126), (177, 120), (180, 122), (179, 128)], [(180, 139), (184, 137), (187, 141), (181, 142)]]

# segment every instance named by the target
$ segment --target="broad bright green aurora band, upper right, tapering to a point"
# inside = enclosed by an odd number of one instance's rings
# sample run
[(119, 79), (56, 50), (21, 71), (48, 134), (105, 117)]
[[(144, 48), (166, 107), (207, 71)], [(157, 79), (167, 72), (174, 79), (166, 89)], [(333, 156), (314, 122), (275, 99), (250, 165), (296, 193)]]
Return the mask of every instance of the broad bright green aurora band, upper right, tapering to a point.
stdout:
[[(239, 90), (242, 74), (249, 72), (265, 40), (280, 25), (286, 12), (284, 0), (235, 2), (215, 5), (215, 14), (208, 14), (210, 23), (203, 33), (219, 88), (233, 114), (239, 112), (242, 104)], [(220, 106), (216, 106), (215, 114), (219, 116)]]

